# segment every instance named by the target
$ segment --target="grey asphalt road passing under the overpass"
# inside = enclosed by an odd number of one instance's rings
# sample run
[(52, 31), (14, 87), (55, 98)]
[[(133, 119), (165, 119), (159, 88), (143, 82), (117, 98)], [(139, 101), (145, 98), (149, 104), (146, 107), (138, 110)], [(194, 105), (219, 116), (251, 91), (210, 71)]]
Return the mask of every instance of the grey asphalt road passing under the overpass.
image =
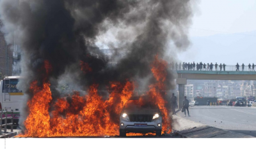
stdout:
[(201, 124), (238, 132), (256, 137), (256, 108), (230, 106), (193, 106), (189, 108), (191, 117), (177, 115)]

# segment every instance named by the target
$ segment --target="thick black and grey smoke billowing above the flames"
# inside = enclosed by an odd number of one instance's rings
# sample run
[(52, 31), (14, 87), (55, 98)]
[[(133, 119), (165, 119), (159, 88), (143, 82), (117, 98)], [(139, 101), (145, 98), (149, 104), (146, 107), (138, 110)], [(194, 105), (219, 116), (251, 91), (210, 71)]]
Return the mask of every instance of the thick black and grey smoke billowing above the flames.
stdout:
[[(22, 48), (18, 87), (28, 95), (30, 83), (40, 85), (45, 77), (53, 99), (64, 84), (86, 90), (96, 83), (104, 90), (109, 82), (129, 79), (145, 88), (141, 80), (152, 82), (156, 55), (170, 62), (175, 59), (166, 55), (170, 47), (188, 48), (192, 5), (189, 0), (1, 0), (1, 31), (9, 43), (15, 33)], [(40, 69), (45, 60), (51, 64), (48, 76)], [(81, 71), (83, 64), (92, 70)], [(175, 88), (174, 79), (168, 70), (168, 90)]]

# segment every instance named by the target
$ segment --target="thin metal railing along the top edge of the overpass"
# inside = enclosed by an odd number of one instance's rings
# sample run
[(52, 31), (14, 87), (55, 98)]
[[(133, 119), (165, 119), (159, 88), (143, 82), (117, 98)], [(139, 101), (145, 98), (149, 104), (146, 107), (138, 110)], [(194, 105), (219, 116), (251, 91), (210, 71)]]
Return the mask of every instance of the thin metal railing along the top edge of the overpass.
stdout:
[[(176, 69), (176, 67), (174, 69)], [(183, 68), (180, 67), (180, 69), (179, 69), (179, 67), (177, 67), (177, 70), (182, 71)], [(188, 70), (188, 69), (185, 69), (185, 70), (193, 71), (194, 69), (192, 68), (191, 70)], [(237, 70), (237, 67), (235, 65), (225, 66), (225, 71), (236, 71), (236, 70)], [(256, 70), (256, 66), (255, 66), (254, 70)], [(254, 71), (254, 70), (252, 69), (252, 66), (250, 67), (250, 69), (249, 69), (249, 66), (244, 66), (244, 69), (243, 69), (243, 67), (241, 65), (239, 65), (239, 71)], [(196, 71), (196, 67), (195, 67), (195, 71)], [(205, 66), (205, 69), (204, 69), (204, 66), (203, 66), (202, 71), (210, 71), (210, 67), (209, 67), (209, 69), (207, 69), (207, 66)], [(212, 71), (220, 71), (220, 66), (218, 66), (217, 69), (215, 69), (215, 66), (213, 66)], [(221, 71), (224, 71), (224, 67), (222, 67)]]

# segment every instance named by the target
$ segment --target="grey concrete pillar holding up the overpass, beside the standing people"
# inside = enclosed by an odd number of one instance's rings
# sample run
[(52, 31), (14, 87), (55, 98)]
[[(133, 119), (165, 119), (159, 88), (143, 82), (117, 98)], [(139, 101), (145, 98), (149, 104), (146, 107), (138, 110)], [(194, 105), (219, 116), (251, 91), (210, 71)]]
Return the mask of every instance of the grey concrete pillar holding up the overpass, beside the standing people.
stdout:
[(185, 95), (185, 85), (187, 84), (187, 78), (177, 78), (176, 80), (177, 84), (179, 85), (179, 93), (177, 96), (178, 99), (178, 108), (182, 108), (182, 101), (184, 99)]

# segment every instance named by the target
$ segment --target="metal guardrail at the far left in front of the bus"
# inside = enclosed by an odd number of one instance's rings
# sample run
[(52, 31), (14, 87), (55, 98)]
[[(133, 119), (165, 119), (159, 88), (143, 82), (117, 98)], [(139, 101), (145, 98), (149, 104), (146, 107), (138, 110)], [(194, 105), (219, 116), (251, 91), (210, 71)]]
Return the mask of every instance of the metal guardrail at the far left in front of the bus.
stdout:
[[(11, 126), (11, 132), (13, 132), (13, 110), (12, 110), (12, 117), (7, 117), (8, 111), (0, 110), (0, 134), (2, 134), (2, 127), (4, 127), (4, 133), (7, 133), (7, 126)], [(4, 114), (5, 113), (5, 114)], [(4, 117), (3, 117), (4, 114)], [(4, 120), (4, 124), (2, 124)], [(11, 123), (7, 123), (7, 120), (11, 120)]]

